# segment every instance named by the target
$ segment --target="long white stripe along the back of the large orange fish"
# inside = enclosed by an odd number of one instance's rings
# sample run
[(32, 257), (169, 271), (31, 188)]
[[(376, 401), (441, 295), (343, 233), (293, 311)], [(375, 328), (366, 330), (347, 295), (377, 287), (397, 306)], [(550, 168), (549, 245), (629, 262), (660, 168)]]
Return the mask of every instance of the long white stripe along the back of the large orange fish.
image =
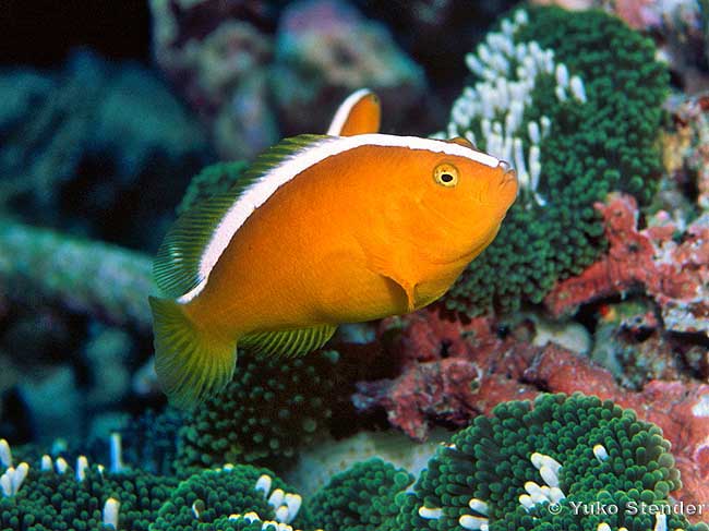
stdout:
[(263, 205), (276, 190), (302, 173), (311, 166), (322, 162), (328, 157), (362, 146), (406, 147), (414, 150), (428, 150), (457, 157), (468, 158), (490, 168), (496, 168), (500, 159), (476, 152), (460, 144), (434, 138), (420, 138), (418, 136), (395, 136), (390, 134), (359, 134), (354, 136), (325, 136), (308, 147), (286, 157), (279, 165), (272, 168), (256, 182), (243, 191), (235, 204), (227, 210), (217, 226), (212, 240), (202, 254), (200, 261), (200, 278), (202, 279), (192, 290), (180, 297), (177, 301), (185, 304), (199, 295), (209, 279), (209, 273), (227, 249), (233, 234), (251, 216)]

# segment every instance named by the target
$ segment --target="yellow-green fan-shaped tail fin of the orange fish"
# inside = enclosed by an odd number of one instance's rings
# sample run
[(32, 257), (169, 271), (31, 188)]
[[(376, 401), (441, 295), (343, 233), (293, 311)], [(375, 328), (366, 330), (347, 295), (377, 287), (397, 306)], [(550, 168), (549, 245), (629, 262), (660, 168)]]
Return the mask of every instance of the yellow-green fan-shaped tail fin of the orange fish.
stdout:
[(233, 376), (233, 339), (203, 329), (170, 299), (148, 298), (155, 330), (155, 372), (178, 408), (190, 408), (223, 389)]

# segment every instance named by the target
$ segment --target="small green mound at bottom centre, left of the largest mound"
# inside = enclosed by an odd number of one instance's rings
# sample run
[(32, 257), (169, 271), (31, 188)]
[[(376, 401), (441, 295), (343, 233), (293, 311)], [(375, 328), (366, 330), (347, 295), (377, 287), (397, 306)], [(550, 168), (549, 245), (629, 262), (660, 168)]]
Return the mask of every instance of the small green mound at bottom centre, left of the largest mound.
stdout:
[(340, 531), (393, 529), (395, 498), (413, 475), (375, 458), (341, 472), (310, 500), (315, 526)]

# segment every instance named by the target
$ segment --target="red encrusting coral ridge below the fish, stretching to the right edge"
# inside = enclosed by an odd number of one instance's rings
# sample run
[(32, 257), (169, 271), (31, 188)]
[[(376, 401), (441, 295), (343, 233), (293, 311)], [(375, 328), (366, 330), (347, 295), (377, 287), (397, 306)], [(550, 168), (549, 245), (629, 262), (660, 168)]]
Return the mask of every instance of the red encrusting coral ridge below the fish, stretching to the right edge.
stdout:
[(505, 335), (497, 326), (491, 317), (461, 324), (433, 311), (385, 319), (381, 337), (400, 330), (388, 346), (400, 375), (358, 384), (354, 406), (383, 408), (392, 425), (421, 441), (430, 422), (465, 426), (507, 400), (533, 399), (541, 391), (597, 395), (663, 430), (682, 471), (677, 499), (709, 499), (709, 385), (651, 381), (630, 391), (585, 355), (552, 342), (532, 346), (527, 323)]

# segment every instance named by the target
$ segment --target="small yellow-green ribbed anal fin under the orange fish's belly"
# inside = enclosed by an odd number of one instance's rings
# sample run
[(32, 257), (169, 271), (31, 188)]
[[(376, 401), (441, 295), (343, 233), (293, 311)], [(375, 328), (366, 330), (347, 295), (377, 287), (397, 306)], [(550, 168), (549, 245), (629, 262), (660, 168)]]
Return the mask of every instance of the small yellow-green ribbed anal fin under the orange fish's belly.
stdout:
[(317, 350), (333, 337), (337, 326), (320, 325), (293, 330), (261, 331), (239, 340), (239, 347), (256, 355), (295, 358)]

